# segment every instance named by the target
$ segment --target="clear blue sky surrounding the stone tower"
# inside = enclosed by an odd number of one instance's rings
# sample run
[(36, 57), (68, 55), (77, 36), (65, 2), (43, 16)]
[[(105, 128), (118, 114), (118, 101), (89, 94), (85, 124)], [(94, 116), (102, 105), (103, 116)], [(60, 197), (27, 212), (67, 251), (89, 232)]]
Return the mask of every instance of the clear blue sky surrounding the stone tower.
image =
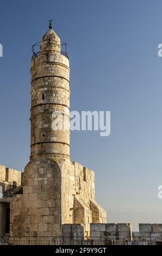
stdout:
[(111, 111), (111, 135), (75, 131), (72, 160), (95, 170), (108, 222), (162, 223), (162, 2), (48, 0), (0, 3), (0, 162), (30, 154), (30, 58), (53, 19), (68, 44), (71, 110)]

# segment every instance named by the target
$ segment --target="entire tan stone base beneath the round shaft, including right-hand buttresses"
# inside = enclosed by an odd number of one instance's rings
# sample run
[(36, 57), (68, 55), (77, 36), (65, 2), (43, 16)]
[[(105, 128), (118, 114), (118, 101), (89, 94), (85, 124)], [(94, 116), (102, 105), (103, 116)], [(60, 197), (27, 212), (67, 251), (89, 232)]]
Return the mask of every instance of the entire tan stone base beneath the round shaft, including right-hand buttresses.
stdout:
[[(76, 166), (80, 167), (79, 171)], [(14, 196), (10, 205), (11, 235), (61, 236), (61, 224), (81, 223), (84, 235), (89, 236), (95, 210), (106, 220), (105, 211), (94, 199), (91, 170), (68, 159), (60, 161), (59, 157), (32, 160), (24, 170), (23, 194)]]

